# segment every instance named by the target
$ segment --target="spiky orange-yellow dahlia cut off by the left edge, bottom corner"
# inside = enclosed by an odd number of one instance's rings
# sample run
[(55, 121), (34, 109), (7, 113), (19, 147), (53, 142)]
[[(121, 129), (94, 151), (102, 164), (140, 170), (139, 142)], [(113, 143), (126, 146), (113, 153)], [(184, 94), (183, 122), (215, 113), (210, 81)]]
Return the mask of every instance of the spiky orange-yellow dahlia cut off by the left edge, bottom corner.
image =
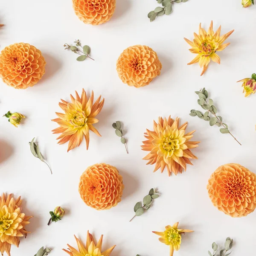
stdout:
[(0, 196), (0, 252), (4, 252), (10, 256), (12, 244), (19, 247), (20, 237), (25, 236), (27, 233), (25, 226), (29, 224), (29, 219), (33, 216), (26, 216), (22, 213), (20, 207), (22, 200), (20, 197), (15, 199), (12, 194)]

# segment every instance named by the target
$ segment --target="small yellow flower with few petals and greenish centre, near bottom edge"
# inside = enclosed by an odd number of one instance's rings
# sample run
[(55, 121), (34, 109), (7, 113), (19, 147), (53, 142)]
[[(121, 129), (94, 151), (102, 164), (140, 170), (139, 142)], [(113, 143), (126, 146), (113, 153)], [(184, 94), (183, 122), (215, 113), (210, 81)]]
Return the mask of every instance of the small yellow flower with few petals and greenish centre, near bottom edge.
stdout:
[(174, 250), (180, 249), (181, 234), (185, 232), (194, 232), (193, 230), (178, 229), (179, 222), (176, 222), (173, 226), (166, 226), (166, 230), (163, 232), (152, 231), (153, 233), (161, 236), (159, 241), (170, 246), (170, 256), (173, 256)]

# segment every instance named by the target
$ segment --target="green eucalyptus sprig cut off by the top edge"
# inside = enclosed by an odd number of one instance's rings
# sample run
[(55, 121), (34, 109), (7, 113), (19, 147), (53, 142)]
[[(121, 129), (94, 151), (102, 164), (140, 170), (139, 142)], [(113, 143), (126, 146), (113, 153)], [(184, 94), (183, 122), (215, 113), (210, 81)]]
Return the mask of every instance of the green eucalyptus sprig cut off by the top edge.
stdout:
[(180, 2), (187, 2), (188, 0), (157, 0), (157, 3), (161, 3), (163, 7), (158, 6), (154, 9), (154, 11), (151, 11), (148, 13), (148, 18), (150, 22), (156, 19), (157, 16), (162, 15), (169, 15), (172, 12), (172, 3), (180, 3)]

